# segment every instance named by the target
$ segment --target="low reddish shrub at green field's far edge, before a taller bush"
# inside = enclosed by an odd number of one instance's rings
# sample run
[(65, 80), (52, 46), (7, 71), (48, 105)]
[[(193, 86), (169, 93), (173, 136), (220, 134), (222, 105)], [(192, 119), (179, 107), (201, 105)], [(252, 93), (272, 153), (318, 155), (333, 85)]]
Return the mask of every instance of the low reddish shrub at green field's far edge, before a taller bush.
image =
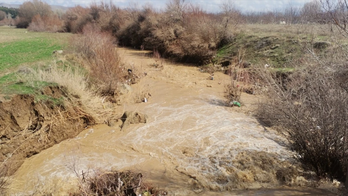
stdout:
[(62, 29), (62, 26), (63, 22), (58, 18), (57, 15), (44, 17), (35, 15), (28, 26), (28, 30), (38, 32), (58, 32)]

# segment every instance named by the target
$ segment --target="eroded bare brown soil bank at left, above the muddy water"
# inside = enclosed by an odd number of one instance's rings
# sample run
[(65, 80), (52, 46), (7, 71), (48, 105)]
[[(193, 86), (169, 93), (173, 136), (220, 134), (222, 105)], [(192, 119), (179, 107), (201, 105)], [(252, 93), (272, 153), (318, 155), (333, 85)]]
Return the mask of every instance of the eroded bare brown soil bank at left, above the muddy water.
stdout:
[[(45, 87), (41, 94), (70, 100), (62, 87)], [(0, 102), (0, 116), (0, 162), (6, 160), (9, 174), (25, 158), (76, 136), (88, 125), (73, 108), (53, 101), (37, 102), (34, 95), (15, 95)]]

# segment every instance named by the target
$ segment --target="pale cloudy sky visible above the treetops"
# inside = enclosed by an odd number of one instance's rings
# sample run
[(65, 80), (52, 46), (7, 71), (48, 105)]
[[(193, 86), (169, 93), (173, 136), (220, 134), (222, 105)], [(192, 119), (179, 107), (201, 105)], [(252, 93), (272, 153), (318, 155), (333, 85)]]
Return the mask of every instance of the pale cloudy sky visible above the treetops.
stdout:
[[(73, 7), (75, 5), (87, 6), (92, 2), (98, 2), (95, 0), (43, 0), (50, 5), (60, 5), (66, 7)], [(219, 9), (219, 5), (226, 0), (190, 0), (192, 2), (200, 4), (207, 11), (216, 11)], [(251, 11), (270, 11), (273, 9), (282, 9), (289, 4), (293, 6), (301, 6), (310, 0), (233, 0), (235, 5), (240, 10), (251, 10)], [(24, 0), (0, 0), (0, 3), (8, 4), (22, 4)], [(109, 0), (105, 0), (109, 2)], [(112, 2), (121, 8), (127, 7), (130, 0), (112, 0)], [(133, 0), (139, 5), (143, 5), (150, 2), (155, 8), (165, 7), (166, 0)]]

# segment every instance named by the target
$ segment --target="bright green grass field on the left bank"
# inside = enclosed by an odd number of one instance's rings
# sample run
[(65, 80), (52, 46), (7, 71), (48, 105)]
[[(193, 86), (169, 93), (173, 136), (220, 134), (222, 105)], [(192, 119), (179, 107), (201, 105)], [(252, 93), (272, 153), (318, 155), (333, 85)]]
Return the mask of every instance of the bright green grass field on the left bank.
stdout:
[(21, 81), (21, 73), (17, 70), (50, 64), (56, 58), (53, 51), (64, 50), (71, 34), (23, 31), (26, 30), (0, 27), (0, 97), (9, 99), (14, 94), (34, 94), (37, 100), (51, 100), (52, 97), (42, 96), (40, 90), (55, 84), (33, 82), (28, 85)]

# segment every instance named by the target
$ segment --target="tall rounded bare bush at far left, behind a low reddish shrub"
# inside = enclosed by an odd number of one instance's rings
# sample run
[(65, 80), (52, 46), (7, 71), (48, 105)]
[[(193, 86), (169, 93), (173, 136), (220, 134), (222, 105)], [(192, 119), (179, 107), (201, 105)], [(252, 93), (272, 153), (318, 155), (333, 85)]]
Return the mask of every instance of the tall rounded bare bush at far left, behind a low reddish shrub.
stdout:
[(52, 14), (51, 7), (46, 2), (39, 0), (25, 1), (18, 8), (19, 19), (17, 21), (17, 28), (27, 28), (35, 15), (47, 17)]

